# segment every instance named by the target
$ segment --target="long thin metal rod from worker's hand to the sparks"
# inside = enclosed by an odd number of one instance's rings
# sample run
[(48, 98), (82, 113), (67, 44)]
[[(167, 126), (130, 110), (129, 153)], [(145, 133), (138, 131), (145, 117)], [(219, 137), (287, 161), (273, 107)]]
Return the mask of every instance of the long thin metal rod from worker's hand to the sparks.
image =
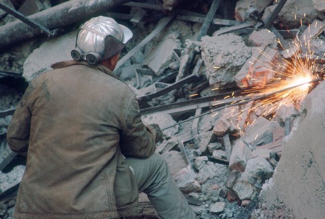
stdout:
[(194, 116), (194, 117), (188, 118), (188, 119), (186, 119), (186, 120), (183, 120), (183, 121), (181, 121), (181, 122), (175, 123), (175, 124), (173, 124), (173, 125), (166, 126), (166, 127), (164, 127), (164, 128), (161, 128), (161, 130), (165, 130), (165, 129), (171, 128), (171, 127), (173, 127), (173, 126), (176, 126), (176, 125), (182, 124), (182, 123), (184, 123), (184, 122), (187, 122), (187, 121), (190, 121), (190, 120), (193, 120), (193, 119), (196, 119), (196, 118), (199, 118), (199, 117), (205, 116), (205, 115), (212, 114), (212, 113), (215, 112), (215, 111), (219, 111), (219, 110), (224, 109), (224, 108), (227, 108), (227, 107), (231, 107), (231, 106), (235, 106), (235, 105), (241, 105), (241, 104), (244, 104), (244, 103), (247, 103), (247, 102), (250, 102), (250, 101), (254, 101), (254, 100), (264, 99), (264, 98), (269, 97), (269, 96), (272, 96), (272, 95), (274, 95), (274, 94), (281, 93), (281, 92), (284, 92), (284, 91), (287, 91), (287, 90), (291, 90), (291, 89), (294, 89), (294, 88), (296, 88), (296, 87), (300, 87), (300, 86), (305, 85), (305, 84), (311, 84), (311, 83), (319, 82), (320, 80), (321, 80), (320, 78), (316, 78), (316, 79), (314, 79), (314, 80), (312, 80), (312, 81), (305, 82), (305, 83), (302, 83), (302, 84), (299, 84), (299, 85), (295, 85), (295, 86), (292, 86), (292, 87), (284, 88), (284, 89), (279, 90), (279, 91), (274, 91), (274, 92), (271, 92), (271, 93), (268, 93), (268, 94), (263, 94), (263, 95), (261, 95), (261, 96), (257, 96), (257, 97), (254, 97), (254, 98), (250, 98), (250, 99), (247, 99), (247, 100), (244, 100), (244, 101), (241, 101), (241, 102), (237, 102), (237, 103), (234, 103), (234, 104), (224, 105), (224, 106), (221, 106), (221, 107), (218, 107), (218, 108), (212, 109), (211, 111), (208, 111), (208, 112), (206, 112), (206, 113), (200, 114), (200, 115), (198, 115), (198, 116)]

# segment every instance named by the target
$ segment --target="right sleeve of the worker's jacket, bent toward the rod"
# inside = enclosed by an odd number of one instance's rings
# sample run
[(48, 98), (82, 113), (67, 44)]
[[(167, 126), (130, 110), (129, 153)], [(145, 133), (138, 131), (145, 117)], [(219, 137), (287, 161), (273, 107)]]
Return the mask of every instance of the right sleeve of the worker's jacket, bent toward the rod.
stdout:
[(124, 124), (120, 140), (122, 154), (125, 157), (150, 157), (156, 148), (154, 133), (142, 123), (138, 101), (134, 96), (127, 105)]

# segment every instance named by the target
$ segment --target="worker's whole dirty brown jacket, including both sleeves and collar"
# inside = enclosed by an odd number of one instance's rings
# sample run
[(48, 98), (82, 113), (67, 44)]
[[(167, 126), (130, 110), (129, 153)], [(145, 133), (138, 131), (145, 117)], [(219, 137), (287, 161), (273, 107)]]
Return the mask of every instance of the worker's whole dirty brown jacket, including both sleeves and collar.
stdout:
[[(153, 134), (141, 121), (135, 94), (104, 65), (56, 64), (29, 84), (8, 128), (10, 148), (27, 156), (14, 216), (135, 214), (137, 185), (121, 153), (149, 157)], [(122, 199), (119, 206), (115, 197)]]

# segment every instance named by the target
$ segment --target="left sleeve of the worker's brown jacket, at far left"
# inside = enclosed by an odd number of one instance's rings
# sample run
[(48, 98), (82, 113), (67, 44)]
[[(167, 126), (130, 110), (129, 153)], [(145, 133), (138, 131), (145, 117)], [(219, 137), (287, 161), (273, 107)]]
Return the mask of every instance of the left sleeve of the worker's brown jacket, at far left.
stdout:
[(33, 90), (30, 84), (20, 100), (7, 130), (7, 142), (15, 153), (27, 157), (31, 112), (27, 107), (28, 98)]

